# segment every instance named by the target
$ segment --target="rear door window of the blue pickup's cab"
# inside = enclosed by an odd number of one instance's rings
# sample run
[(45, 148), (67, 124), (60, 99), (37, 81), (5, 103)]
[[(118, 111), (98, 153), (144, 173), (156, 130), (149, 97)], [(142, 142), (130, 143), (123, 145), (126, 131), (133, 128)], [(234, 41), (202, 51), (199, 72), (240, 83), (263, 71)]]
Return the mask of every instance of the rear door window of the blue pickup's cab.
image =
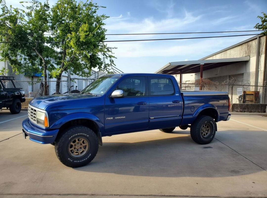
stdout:
[(150, 95), (170, 95), (174, 93), (174, 87), (169, 78), (149, 77)]

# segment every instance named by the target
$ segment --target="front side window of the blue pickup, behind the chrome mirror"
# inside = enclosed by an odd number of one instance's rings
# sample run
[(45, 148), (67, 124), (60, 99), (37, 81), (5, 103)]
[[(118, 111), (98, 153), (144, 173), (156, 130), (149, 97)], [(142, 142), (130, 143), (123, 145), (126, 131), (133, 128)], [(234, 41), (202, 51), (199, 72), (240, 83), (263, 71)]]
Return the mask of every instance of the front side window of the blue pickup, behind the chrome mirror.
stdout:
[(144, 96), (146, 90), (145, 77), (126, 78), (117, 86), (116, 89), (121, 89), (124, 96)]

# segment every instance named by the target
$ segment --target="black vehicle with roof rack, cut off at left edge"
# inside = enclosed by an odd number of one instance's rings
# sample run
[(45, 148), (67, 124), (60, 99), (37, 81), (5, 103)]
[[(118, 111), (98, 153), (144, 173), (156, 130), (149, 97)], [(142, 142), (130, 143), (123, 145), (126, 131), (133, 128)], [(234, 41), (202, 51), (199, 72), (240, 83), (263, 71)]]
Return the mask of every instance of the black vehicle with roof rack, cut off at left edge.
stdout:
[[(22, 88), (16, 88), (13, 76), (0, 76), (0, 109), (9, 108), (11, 114), (21, 111), (21, 103), (25, 102), (25, 92)], [(12, 88), (6, 88), (6, 85)]]

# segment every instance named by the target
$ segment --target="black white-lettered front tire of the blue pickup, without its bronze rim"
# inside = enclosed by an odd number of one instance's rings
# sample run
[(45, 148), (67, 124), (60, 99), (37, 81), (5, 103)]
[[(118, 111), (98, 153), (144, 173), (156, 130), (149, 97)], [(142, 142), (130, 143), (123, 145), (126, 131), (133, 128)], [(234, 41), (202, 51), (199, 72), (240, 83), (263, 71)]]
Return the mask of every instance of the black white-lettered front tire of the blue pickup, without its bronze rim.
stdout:
[[(69, 146), (71, 143), (73, 143), (73, 139), (79, 137), (89, 142), (89, 150), (84, 156), (80, 158), (74, 158), (69, 153)], [(62, 164), (72, 168), (87, 165), (95, 158), (97, 151), (98, 139), (95, 132), (90, 128), (81, 125), (76, 125), (65, 129), (65, 131), (59, 134), (55, 142), (55, 152), (57, 158)]]

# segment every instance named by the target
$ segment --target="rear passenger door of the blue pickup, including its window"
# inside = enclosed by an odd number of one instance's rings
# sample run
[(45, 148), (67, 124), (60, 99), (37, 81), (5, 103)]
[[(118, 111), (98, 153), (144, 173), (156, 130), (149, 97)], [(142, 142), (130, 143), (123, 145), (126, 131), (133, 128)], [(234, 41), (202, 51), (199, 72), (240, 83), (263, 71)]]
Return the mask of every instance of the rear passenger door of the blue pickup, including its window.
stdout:
[(182, 99), (170, 78), (148, 77), (149, 129), (179, 126)]

